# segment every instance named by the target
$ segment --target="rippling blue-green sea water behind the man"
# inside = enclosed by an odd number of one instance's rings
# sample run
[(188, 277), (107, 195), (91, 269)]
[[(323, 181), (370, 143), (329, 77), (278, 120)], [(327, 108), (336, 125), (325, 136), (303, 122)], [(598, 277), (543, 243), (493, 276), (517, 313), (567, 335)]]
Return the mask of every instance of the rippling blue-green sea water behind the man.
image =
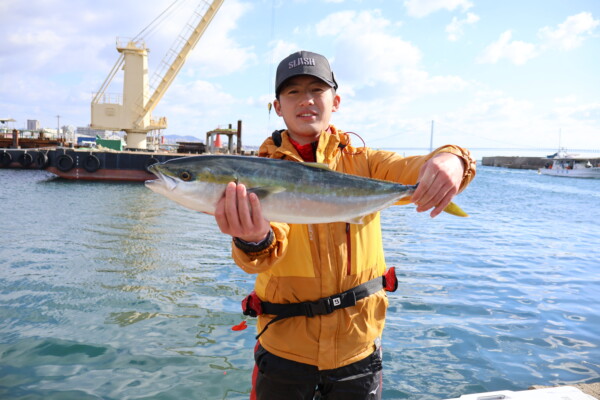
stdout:
[[(382, 213), (385, 399), (600, 380), (600, 180), (479, 167), (469, 218)], [(1, 399), (245, 399), (254, 277), (142, 184), (0, 170)]]

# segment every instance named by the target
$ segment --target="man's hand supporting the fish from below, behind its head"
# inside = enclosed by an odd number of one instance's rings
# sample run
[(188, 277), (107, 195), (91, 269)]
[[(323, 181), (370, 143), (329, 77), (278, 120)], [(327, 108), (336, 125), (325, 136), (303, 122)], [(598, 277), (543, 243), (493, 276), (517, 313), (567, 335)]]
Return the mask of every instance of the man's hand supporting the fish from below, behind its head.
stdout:
[(248, 195), (246, 186), (235, 182), (229, 182), (217, 203), (215, 219), (221, 232), (245, 242), (260, 242), (271, 230), (269, 221), (262, 215), (258, 196)]

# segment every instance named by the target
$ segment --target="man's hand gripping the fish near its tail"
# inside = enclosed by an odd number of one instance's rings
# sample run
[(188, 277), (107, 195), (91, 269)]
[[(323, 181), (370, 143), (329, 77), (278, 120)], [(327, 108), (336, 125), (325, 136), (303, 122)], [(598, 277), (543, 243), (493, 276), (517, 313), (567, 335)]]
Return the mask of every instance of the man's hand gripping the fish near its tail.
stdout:
[(462, 159), (452, 153), (439, 153), (427, 161), (419, 172), (419, 187), (412, 195), (417, 212), (430, 210), (437, 217), (458, 193), (465, 172)]

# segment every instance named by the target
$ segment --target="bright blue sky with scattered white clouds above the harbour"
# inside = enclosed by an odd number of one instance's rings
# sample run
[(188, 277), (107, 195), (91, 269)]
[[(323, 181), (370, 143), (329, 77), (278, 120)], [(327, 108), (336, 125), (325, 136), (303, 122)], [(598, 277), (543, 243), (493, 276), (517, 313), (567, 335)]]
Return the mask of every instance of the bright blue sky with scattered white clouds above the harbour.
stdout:
[[(162, 21), (144, 36), (152, 76), (197, 1), (172, 4), (0, 0), (0, 118), (87, 126), (116, 39)], [(201, 140), (241, 120), (258, 146), (284, 128), (268, 104), (297, 50), (330, 60), (332, 123), (372, 148), (600, 150), (598, 0), (225, 0), (153, 117)]]

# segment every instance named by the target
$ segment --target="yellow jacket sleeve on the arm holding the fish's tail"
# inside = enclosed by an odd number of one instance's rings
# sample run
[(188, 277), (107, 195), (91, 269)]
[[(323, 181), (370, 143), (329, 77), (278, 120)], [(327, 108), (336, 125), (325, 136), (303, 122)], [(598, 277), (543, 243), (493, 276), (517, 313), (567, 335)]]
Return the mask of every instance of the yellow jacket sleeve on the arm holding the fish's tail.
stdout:
[(462, 192), (475, 177), (476, 161), (469, 150), (455, 145), (445, 145), (427, 155), (411, 157), (402, 157), (391, 151), (369, 150), (371, 177), (405, 185), (414, 185), (419, 178), (421, 167), (439, 153), (452, 153), (463, 161), (465, 172), (459, 187), (459, 192)]

